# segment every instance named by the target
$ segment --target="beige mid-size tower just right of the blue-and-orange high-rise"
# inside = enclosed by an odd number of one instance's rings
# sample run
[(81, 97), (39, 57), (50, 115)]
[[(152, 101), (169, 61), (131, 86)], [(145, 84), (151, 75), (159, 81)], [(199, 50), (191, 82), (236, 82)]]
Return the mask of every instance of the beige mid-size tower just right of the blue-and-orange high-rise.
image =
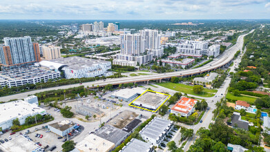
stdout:
[(43, 46), (43, 56), (46, 60), (58, 59), (61, 57), (59, 46)]

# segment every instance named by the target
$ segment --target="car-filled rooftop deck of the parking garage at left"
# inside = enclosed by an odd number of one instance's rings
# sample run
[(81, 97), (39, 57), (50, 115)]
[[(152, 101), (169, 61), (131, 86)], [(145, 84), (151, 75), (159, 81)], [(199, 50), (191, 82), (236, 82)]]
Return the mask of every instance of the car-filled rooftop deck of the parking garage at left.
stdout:
[(34, 77), (40, 77), (43, 75), (58, 73), (49, 70), (44, 67), (26, 66), (26, 67), (15, 67), (8, 70), (0, 71), (0, 81), (3, 80), (19, 80), (19, 79), (30, 79)]

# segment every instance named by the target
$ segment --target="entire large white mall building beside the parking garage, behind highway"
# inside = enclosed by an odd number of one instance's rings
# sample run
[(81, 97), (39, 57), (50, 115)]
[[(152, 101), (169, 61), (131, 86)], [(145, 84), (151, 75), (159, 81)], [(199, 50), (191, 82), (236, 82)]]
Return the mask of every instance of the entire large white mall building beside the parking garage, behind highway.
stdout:
[(112, 75), (112, 73), (107, 72), (111, 68), (110, 61), (84, 57), (59, 58), (51, 61), (41, 61), (39, 64), (56, 71), (64, 71), (66, 79)]

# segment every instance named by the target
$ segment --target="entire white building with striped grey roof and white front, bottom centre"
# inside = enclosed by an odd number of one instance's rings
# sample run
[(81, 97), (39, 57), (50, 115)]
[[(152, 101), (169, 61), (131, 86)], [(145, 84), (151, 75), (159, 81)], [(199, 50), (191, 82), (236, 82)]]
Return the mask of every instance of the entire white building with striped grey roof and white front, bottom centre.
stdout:
[(160, 117), (155, 117), (151, 122), (148, 123), (139, 131), (139, 135), (142, 138), (152, 144), (153, 146), (160, 146), (163, 140), (166, 138), (168, 133), (171, 133), (173, 129), (173, 122), (169, 120), (164, 120)]

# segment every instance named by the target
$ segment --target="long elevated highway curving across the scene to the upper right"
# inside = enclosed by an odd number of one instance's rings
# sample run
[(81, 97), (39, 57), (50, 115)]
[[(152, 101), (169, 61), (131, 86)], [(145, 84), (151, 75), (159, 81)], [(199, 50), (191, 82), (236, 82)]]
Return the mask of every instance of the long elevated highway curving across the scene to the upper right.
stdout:
[[(253, 32), (251, 30), (250, 32)], [(247, 34), (245, 34), (247, 35)], [(120, 78), (115, 78), (115, 79), (106, 79), (106, 80), (99, 80), (95, 82), (84, 82), (81, 85), (94, 87), (98, 86), (106, 86), (107, 84), (125, 84), (125, 83), (130, 83), (130, 82), (147, 82), (149, 80), (157, 80), (161, 81), (161, 79), (166, 79), (170, 77), (182, 77), (182, 76), (189, 76), (189, 75), (196, 75), (200, 73), (204, 73), (210, 70), (215, 70), (216, 68), (220, 68), (226, 64), (228, 64), (232, 59), (234, 54), (242, 49), (242, 46), (244, 44), (244, 36), (245, 35), (240, 35), (238, 37), (238, 40), (235, 45), (231, 46), (228, 50), (225, 50), (222, 55), (211, 61), (209, 64), (206, 64), (200, 68), (193, 68), (193, 69), (188, 69), (188, 70), (182, 70), (182, 71), (177, 71), (177, 72), (172, 72), (172, 73), (155, 73), (153, 75), (140, 75), (137, 77), (120, 77)], [(33, 95), (35, 93), (39, 93), (42, 91), (50, 91), (50, 90), (57, 90), (57, 89), (64, 89), (64, 88), (71, 88), (71, 87), (76, 87), (76, 86), (81, 86), (80, 84), (71, 84), (71, 85), (66, 85), (66, 86), (57, 86), (57, 87), (52, 87), (52, 88), (45, 88), (41, 90), (35, 90), (35, 91), (29, 91), (26, 93), (19, 93), (15, 95), (8, 95), (5, 97), (0, 97), (1, 102), (7, 102), (10, 99), (23, 99), (25, 97), (28, 97), (28, 95)]]

